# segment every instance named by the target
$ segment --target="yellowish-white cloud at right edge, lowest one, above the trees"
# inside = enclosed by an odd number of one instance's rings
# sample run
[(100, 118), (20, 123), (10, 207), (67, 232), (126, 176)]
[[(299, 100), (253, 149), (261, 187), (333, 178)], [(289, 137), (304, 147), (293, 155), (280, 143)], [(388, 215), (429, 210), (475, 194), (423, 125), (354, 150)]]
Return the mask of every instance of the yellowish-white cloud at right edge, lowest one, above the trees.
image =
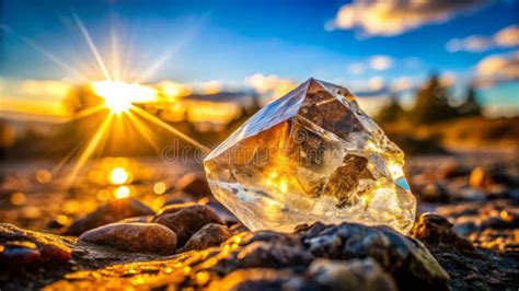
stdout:
[(511, 80), (519, 80), (519, 50), (492, 55), (476, 65), (474, 81), (478, 86), (492, 86)]

